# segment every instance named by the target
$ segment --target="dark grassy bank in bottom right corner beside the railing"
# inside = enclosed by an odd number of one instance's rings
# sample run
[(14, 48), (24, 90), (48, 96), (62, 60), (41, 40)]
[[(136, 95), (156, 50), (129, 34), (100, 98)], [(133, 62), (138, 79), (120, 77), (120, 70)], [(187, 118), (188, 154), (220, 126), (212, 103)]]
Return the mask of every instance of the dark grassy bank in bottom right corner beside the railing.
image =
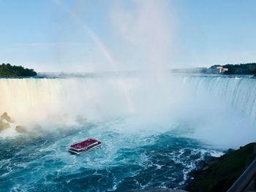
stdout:
[(246, 168), (255, 160), (256, 142), (238, 150), (229, 149), (219, 158), (204, 161), (200, 169), (190, 172), (192, 179), (187, 181), (187, 191), (214, 192), (227, 191)]

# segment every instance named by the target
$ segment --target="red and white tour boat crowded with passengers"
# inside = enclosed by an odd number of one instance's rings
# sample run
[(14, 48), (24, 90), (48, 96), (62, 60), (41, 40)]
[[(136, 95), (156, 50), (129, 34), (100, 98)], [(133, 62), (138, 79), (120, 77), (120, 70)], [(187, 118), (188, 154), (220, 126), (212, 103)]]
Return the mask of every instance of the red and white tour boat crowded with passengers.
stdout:
[(86, 139), (83, 142), (78, 142), (74, 145), (70, 145), (69, 153), (80, 155), (81, 153), (86, 153), (91, 150), (95, 150), (102, 146), (102, 142), (99, 142), (96, 139)]

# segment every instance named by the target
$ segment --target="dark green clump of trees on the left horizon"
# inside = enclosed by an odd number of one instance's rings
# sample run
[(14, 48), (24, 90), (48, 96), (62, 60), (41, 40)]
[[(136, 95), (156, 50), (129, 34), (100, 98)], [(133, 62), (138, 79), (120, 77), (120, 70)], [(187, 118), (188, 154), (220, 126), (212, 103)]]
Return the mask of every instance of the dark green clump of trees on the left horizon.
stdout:
[(27, 69), (23, 66), (12, 66), (10, 64), (0, 65), (0, 77), (28, 77), (35, 76), (34, 69)]

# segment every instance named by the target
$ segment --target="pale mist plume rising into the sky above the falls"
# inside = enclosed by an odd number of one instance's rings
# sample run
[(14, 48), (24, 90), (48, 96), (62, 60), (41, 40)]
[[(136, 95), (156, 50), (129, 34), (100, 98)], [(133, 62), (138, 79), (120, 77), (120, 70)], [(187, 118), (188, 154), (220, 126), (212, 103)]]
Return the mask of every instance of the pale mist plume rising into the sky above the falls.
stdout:
[[(128, 4), (128, 5), (127, 5)], [(144, 69), (167, 69), (172, 58), (174, 22), (169, 1), (114, 1), (113, 31), (137, 56)], [(139, 53), (139, 54), (138, 54)]]

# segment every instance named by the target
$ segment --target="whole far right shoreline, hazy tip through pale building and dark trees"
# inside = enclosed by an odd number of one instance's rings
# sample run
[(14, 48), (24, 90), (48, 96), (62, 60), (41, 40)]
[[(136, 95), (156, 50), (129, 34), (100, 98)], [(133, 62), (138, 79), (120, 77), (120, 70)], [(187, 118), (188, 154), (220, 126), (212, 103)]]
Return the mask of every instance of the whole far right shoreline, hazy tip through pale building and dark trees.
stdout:
[(195, 67), (187, 69), (171, 69), (173, 73), (189, 74), (249, 74), (256, 77), (256, 63), (249, 64), (226, 64), (207, 67)]

